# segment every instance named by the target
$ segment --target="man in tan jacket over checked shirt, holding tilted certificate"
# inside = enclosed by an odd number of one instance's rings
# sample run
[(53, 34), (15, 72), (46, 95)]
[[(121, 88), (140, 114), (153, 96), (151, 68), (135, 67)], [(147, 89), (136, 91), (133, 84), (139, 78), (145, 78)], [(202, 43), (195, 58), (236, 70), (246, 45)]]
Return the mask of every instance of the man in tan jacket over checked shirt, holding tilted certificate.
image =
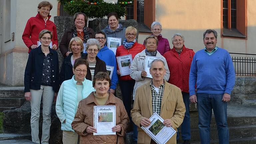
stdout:
[[(153, 60), (150, 68), (152, 81), (136, 90), (131, 116), (132, 121), (138, 126), (138, 144), (155, 144), (154, 140), (140, 128), (150, 125), (149, 118), (153, 113), (156, 112), (164, 119), (165, 126), (171, 126), (176, 131), (183, 121), (186, 110), (181, 90), (163, 79), (165, 73), (164, 62), (160, 59)], [(176, 143), (175, 134), (167, 144)]]

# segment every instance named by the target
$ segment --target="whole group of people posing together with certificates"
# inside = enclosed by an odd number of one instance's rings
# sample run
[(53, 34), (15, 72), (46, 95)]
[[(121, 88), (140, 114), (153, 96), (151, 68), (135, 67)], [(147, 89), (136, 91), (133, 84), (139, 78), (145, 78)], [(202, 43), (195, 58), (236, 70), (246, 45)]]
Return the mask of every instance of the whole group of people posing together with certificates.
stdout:
[[(219, 142), (227, 144), (227, 102), (235, 82), (235, 72), (229, 53), (216, 46), (217, 32), (208, 29), (203, 34), (205, 48), (196, 54), (185, 47), (184, 36), (174, 34), (173, 48), (161, 35), (159, 22), (151, 25), (152, 34), (143, 44), (136, 40), (135, 27), (123, 27), (115, 12), (107, 16), (108, 25), (99, 32), (88, 28), (87, 16), (74, 15), (75, 26), (65, 31), (58, 45), (55, 24), (50, 21), (52, 4), (43, 1), (38, 14), (31, 17), (22, 39), (29, 48), (24, 74), (25, 98), (31, 102), (32, 141), (39, 140), (39, 114), (43, 102), (42, 144), (50, 136), (51, 106), (56, 100), (56, 113), (61, 121), (64, 144), (124, 143), (128, 127), (135, 143), (154, 144), (140, 127), (149, 126), (149, 117), (159, 114), (163, 124), (177, 131), (181, 125), (184, 144), (191, 139), (189, 104), (197, 103), (202, 144), (210, 143), (212, 109), (218, 126)], [(116, 54), (106, 46), (107, 37), (122, 39)], [(64, 60), (59, 72), (57, 49)], [(84, 53), (84, 49), (86, 52)], [(131, 74), (121, 76), (116, 57), (131, 54)], [(150, 75), (145, 70), (146, 56), (158, 57), (150, 63)], [(113, 66), (110, 78), (106, 66)], [(122, 100), (115, 97), (119, 83)], [(93, 135), (93, 106), (115, 105), (116, 135)], [(132, 107), (133, 105), (133, 107)], [(79, 138), (80, 136), (80, 138)], [(175, 144), (175, 134), (167, 143)]]

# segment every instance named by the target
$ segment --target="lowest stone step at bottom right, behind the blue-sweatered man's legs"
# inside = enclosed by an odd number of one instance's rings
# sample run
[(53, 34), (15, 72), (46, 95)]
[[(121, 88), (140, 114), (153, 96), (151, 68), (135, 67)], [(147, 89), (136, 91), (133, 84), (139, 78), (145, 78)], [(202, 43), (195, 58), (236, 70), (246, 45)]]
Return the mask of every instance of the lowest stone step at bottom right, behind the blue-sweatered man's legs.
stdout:
[[(200, 141), (190, 141), (191, 144), (200, 144)], [(183, 144), (183, 142), (177, 142), (177, 144)], [(211, 144), (219, 144), (219, 140), (211, 140)], [(230, 138), (229, 144), (256, 144), (256, 137), (239, 137)]]

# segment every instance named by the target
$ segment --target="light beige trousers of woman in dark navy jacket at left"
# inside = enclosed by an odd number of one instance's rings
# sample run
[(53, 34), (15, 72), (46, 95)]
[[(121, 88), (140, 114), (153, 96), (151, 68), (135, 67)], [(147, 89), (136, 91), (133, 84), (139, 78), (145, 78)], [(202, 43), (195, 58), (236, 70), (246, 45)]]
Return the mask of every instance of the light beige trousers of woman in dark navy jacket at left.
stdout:
[(40, 143), (39, 140), (39, 115), (41, 98), (43, 97), (43, 126), (41, 144), (48, 144), (51, 127), (51, 108), (54, 98), (54, 91), (51, 86), (41, 85), (40, 90), (30, 89), (31, 92), (31, 136), (32, 141)]

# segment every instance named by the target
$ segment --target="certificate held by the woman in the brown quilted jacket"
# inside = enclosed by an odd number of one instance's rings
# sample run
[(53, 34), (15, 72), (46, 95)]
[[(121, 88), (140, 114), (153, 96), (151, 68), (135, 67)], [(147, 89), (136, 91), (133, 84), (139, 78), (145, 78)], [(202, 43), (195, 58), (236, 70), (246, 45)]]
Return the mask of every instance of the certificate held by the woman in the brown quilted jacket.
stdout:
[(93, 127), (97, 133), (93, 135), (115, 135), (112, 127), (116, 125), (116, 106), (93, 106)]

